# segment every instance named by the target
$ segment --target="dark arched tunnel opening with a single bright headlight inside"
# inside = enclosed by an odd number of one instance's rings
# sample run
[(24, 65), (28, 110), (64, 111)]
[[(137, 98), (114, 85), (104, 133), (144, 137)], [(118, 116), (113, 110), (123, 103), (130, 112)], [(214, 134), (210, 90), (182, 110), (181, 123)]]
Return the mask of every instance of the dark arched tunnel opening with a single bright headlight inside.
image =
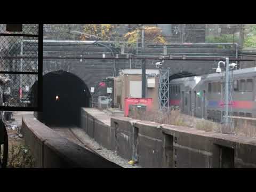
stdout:
[[(30, 95), (36, 91), (36, 84)], [(37, 118), (48, 126), (78, 125), (81, 118), (81, 107), (89, 107), (91, 94), (81, 78), (67, 71), (59, 70), (43, 76), (43, 111)], [(31, 99), (31, 104), (37, 98)]]

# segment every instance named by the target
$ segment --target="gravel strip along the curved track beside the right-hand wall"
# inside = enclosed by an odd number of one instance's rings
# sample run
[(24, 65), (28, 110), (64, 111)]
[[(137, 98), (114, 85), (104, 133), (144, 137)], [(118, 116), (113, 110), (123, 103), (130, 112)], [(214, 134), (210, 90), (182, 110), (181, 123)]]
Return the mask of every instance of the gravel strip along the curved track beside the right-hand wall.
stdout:
[(114, 151), (108, 150), (99, 145), (98, 142), (89, 137), (81, 128), (72, 127), (71, 131), (81, 140), (85, 145), (90, 146), (93, 150), (97, 151), (99, 155), (114, 162), (124, 168), (141, 168), (139, 165), (130, 165), (129, 161), (117, 155)]

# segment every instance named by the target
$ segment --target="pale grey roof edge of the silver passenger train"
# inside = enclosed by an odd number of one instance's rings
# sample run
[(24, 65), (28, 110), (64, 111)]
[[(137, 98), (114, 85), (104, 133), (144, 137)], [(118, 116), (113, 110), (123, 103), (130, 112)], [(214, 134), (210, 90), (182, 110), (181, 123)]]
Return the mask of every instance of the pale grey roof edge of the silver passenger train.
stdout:
[[(223, 71), (224, 72), (224, 71)], [(171, 82), (173, 83), (179, 83), (184, 81), (194, 81), (195, 77), (202, 78), (202, 79), (215, 79), (215, 78), (221, 78), (223, 77), (224, 73), (212, 73), (212, 74), (206, 74), (206, 75), (199, 75), (199, 76), (192, 76), (192, 77), (183, 77), (183, 78), (177, 78), (173, 79)], [(251, 68), (245, 68), (245, 69), (237, 69), (233, 71), (233, 75), (244, 75), (244, 74), (256, 74), (256, 67)]]

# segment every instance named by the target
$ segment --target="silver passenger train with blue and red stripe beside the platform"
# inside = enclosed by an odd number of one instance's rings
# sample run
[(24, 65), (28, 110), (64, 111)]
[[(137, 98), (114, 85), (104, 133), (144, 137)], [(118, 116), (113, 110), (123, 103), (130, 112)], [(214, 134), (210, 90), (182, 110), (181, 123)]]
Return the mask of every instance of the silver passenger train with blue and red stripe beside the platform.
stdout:
[[(256, 67), (231, 71), (230, 116), (256, 117)], [(177, 78), (169, 84), (169, 106), (184, 114), (223, 122), (225, 116), (224, 73)]]

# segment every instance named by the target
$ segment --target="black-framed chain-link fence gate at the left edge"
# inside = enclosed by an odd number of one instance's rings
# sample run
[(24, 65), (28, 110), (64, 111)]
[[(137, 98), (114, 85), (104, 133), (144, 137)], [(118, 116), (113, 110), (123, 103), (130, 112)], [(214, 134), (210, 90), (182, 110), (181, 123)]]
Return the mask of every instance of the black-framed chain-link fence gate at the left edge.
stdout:
[(0, 111), (42, 111), (42, 71), (43, 25), (0, 24)]

